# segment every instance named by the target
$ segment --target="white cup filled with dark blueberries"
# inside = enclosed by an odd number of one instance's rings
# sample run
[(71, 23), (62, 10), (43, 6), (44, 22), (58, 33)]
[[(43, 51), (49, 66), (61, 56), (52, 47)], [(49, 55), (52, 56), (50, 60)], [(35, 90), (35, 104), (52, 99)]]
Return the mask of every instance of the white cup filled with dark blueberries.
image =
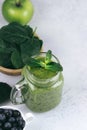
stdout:
[(23, 113), (10, 106), (0, 107), (0, 130), (25, 130), (25, 126), (32, 120), (33, 115)]

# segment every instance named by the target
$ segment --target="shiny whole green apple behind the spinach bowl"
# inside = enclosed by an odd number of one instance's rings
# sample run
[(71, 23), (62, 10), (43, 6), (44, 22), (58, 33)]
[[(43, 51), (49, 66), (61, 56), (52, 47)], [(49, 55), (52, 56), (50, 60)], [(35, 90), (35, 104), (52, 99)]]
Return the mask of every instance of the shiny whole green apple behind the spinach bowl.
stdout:
[(27, 24), (34, 14), (30, 0), (5, 0), (2, 4), (2, 14), (8, 22)]

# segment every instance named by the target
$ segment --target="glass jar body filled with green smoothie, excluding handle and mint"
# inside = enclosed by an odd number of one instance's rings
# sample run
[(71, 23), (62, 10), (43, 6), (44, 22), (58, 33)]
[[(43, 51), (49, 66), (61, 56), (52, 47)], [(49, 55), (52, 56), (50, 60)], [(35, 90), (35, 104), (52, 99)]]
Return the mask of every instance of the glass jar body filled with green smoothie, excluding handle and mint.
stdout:
[[(45, 53), (35, 56), (38, 61), (45, 61)], [(53, 56), (51, 62), (58, 62)], [(27, 92), (24, 93), (26, 105), (33, 111), (48, 111), (61, 101), (63, 75), (61, 71), (53, 71), (44, 67), (29, 68)]]

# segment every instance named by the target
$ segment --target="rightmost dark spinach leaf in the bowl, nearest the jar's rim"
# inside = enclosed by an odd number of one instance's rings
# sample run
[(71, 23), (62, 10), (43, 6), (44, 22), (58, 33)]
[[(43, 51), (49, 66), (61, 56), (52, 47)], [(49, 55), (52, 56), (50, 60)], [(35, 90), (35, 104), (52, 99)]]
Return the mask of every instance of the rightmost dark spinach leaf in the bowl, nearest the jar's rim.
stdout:
[(31, 41), (32, 39), (29, 39), (26, 41), (26, 44), (24, 43), (24, 44), (21, 44), (20, 46), (22, 60), (25, 64), (27, 64), (29, 57), (38, 54), (42, 47), (42, 40), (33, 38), (32, 43)]

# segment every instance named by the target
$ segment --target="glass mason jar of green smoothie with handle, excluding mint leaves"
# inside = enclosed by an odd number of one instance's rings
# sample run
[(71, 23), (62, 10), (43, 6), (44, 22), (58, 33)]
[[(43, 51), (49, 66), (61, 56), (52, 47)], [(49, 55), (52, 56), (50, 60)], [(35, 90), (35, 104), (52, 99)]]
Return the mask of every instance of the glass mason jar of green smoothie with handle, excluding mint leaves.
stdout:
[[(44, 57), (46, 57), (45, 52), (34, 56), (34, 58), (42, 60)], [(54, 55), (52, 55), (52, 61), (59, 63)], [(35, 112), (48, 111), (60, 103), (63, 84), (62, 72), (25, 66), (23, 79), (12, 89), (11, 101), (14, 104), (25, 103), (29, 109)]]

